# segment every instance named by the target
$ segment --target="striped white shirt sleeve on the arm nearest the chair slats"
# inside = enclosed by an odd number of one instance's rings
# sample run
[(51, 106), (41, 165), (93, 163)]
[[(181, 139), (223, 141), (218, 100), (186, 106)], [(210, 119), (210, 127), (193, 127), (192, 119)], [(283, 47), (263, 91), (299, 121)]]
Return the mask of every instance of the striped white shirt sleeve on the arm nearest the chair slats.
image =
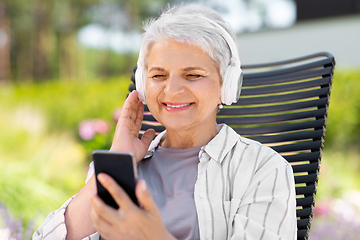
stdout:
[(240, 202), (231, 239), (296, 239), (296, 195), (291, 165), (284, 163), (275, 169), (266, 166), (262, 169), (254, 175)]

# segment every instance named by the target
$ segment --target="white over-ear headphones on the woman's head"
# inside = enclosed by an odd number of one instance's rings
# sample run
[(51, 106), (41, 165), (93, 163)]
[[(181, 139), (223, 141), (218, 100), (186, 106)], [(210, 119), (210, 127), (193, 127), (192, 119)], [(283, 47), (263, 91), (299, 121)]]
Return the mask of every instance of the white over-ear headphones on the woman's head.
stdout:
[[(220, 31), (221, 36), (225, 39), (226, 43), (230, 48), (230, 63), (226, 67), (226, 70), (223, 75), (223, 84), (221, 87), (221, 102), (226, 105), (231, 105), (239, 100), (241, 86), (243, 82), (243, 74), (241, 70), (241, 62), (239, 53), (235, 44), (235, 41), (230, 36), (230, 34), (218, 23), (208, 19), (207, 21), (211, 22), (216, 29)], [(137, 70), (135, 72), (135, 84), (136, 89), (139, 93), (139, 99), (143, 103), (146, 103), (146, 92), (145, 92), (145, 82), (146, 79), (143, 73), (143, 52), (142, 48), (140, 49), (139, 59), (137, 61)]]

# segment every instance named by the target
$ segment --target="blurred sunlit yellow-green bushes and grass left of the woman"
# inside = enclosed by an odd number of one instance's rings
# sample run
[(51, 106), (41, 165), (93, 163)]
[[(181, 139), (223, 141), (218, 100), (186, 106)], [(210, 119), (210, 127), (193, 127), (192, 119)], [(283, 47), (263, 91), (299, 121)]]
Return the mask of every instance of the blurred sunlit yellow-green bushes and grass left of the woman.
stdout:
[[(0, 203), (38, 226), (76, 194), (89, 151), (111, 142), (112, 113), (123, 104), (129, 79), (1, 86)], [(92, 146), (81, 145), (77, 135), (78, 124), (88, 118), (106, 119), (113, 127)]]

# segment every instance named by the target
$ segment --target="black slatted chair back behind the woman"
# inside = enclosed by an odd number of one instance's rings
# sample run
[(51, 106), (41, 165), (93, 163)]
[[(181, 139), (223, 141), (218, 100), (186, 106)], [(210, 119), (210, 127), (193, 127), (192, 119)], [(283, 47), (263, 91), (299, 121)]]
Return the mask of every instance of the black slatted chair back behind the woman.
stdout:
[[(272, 147), (292, 165), (298, 239), (308, 239), (313, 216), (334, 66), (327, 52), (244, 65), (239, 101), (224, 106), (217, 116), (218, 123)], [(129, 90), (134, 89), (131, 84)], [(142, 130), (163, 131), (146, 106), (145, 111)]]

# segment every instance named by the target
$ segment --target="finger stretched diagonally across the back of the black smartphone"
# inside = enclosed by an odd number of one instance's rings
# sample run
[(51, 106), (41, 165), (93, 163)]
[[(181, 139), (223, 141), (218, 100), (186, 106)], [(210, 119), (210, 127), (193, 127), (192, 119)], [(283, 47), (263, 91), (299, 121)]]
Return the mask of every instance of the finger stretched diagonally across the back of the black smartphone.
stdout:
[(104, 188), (108, 190), (108, 192), (114, 198), (115, 202), (119, 205), (119, 208), (126, 211), (127, 209), (134, 206), (134, 203), (124, 191), (124, 189), (122, 189), (122, 187), (120, 187), (112, 177), (105, 173), (99, 173), (98, 180), (104, 186)]

